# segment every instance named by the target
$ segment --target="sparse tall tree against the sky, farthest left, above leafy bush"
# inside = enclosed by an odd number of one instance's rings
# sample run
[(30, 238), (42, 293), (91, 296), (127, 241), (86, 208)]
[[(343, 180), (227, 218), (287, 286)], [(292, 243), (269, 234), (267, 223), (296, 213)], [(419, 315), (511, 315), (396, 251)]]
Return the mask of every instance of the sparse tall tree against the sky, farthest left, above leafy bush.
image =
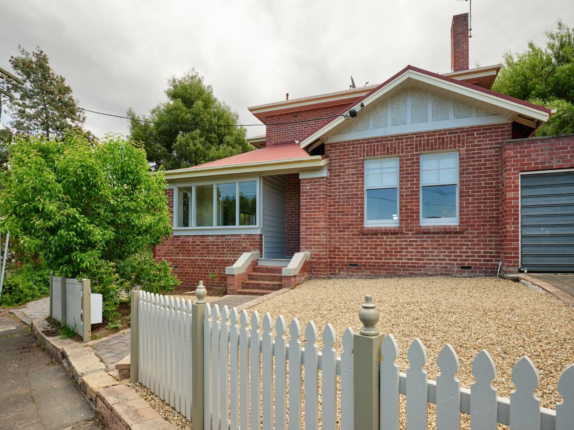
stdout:
[(48, 56), (40, 49), (30, 53), (18, 45), (19, 56), (10, 64), (25, 85), (14, 85), (18, 97), (9, 104), (10, 125), (17, 134), (43, 134), (62, 137), (67, 128), (79, 128), (86, 118), (78, 110), (72, 88), (50, 67)]

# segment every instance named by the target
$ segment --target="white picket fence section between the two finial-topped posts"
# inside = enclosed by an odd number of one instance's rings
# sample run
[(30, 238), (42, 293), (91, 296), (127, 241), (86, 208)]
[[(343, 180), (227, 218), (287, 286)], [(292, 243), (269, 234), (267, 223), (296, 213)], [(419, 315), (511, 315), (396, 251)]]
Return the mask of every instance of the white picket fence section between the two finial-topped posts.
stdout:
[[(290, 323), (290, 339), (287, 342), (287, 326), (282, 316), (276, 320), (274, 326), (277, 334), (273, 337), (273, 321), (269, 314), (263, 317), (263, 330), (260, 333), (257, 312), (253, 312), (249, 318), (245, 310), (240, 316), (235, 308), (229, 311), (227, 306), (224, 306), (220, 314), (217, 304), (213, 307), (205, 306), (204, 311), (206, 430), (259, 429), (261, 412), (263, 429), (286, 429), (287, 424), (290, 430), (299, 430), (303, 428), (302, 424), (305, 429), (317, 429), (320, 404), (323, 428), (335, 429), (338, 421), (337, 376), (341, 377), (342, 384), (342, 428), (352, 428), (353, 333), (350, 328), (343, 335), (345, 350), (341, 357), (338, 357), (333, 347), (335, 330), (331, 324), (323, 330), (325, 346), (319, 350), (319, 334), (312, 321), (305, 328), (307, 343), (302, 347), (301, 326), (296, 318)], [(249, 321), (251, 329), (248, 326)], [(301, 377), (302, 369), (304, 378)], [(303, 388), (304, 420), (301, 419)]]

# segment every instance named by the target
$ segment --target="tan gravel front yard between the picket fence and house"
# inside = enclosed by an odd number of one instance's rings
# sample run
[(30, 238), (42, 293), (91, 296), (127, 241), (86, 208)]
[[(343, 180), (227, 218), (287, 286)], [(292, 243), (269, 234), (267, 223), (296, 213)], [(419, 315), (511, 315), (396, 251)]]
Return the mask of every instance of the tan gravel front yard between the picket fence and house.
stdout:
[(397, 339), (402, 372), (408, 367), (410, 342), (418, 337), (426, 346), (429, 378), (436, 379), (437, 357), (451, 343), (460, 361), (457, 376), (470, 388), (472, 359), (487, 349), (497, 366), (494, 385), (499, 396), (507, 397), (514, 389), (512, 368), (528, 355), (540, 374), (536, 394), (542, 406), (554, 409), (561, 400), (558, 378), (574, 363), (574, 306), (520, 283), (492, 277), (311, 280), (248, 312), (257, 310), (261, 318), (265, 312), (273, 318), (282, 314), (288, 322), (296, 316), (303, 332), (310, 319), (320, 334), (330, 322), (340, 353), (343, 331), (360, 327), (358, 311), (366, 294), (373, 295), (381, 312), (381, 333), (393, 333)]

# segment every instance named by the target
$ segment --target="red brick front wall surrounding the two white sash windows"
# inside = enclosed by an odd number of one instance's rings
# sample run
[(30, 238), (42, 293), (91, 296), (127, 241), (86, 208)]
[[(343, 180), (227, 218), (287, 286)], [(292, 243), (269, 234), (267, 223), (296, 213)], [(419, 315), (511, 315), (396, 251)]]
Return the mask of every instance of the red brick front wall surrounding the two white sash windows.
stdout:
[[(309, 275), (496, 273), (499, 148), (510, 135), (510, 124), (494, 124), (327, 143), (329, 178), (301, 179), (301, 251), (312, 252)], [(460, 151), (460, 226), (421, 227), (419, 157), (439, 150)], [(364, 158), (384, 155), (400, 157), (400, 226), (364, 228)]]

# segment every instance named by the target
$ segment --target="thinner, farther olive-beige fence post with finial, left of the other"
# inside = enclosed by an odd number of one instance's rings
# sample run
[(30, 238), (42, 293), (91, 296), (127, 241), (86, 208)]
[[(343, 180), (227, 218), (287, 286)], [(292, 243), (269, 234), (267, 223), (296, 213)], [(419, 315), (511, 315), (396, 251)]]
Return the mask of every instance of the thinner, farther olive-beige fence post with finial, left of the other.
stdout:
[(191, 424), (203, 429), (203, 311), (207, 290), (203, 281), (195, 290), (196, 300), (191, 305)]

